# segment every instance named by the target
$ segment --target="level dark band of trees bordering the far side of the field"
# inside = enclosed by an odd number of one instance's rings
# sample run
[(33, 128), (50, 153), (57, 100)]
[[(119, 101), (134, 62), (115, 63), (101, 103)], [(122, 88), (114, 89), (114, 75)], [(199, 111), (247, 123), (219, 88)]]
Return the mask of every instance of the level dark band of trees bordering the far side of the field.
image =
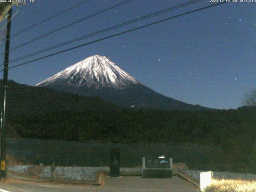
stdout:
[(75, 141), (191, 142), (220, 145), (228, 138), (254, 141), (256, 109), (198, 112), (127, 110), (64, 110), (16, 115), (24, 138)]

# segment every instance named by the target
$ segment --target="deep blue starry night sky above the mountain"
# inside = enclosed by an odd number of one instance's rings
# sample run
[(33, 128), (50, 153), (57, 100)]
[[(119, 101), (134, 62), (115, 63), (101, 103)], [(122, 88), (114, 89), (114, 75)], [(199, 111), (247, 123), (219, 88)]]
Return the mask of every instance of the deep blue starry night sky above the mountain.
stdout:
[[(15, 34), (80, 1), (36, 0), (15, 7), (13, 12), (19, 11), (12, 20), (11, 33)], [(11, 48), (118, 2), (122, 1), (91, 0), (11, 38)], [(10, 52), (10, 60), (184, 2), (188, 1), (132, 0), (18, 48)], [(10, 66), (211, 4), (210, 0), (205, 0), (12, 62)], [(3, 52), (4, 43), (0, 50)], [(88, 56), (99, 54), (107, 56), (140, 82), (165, 96), (210, 108), (238, 108), (242, 106), (244, 93), (256, 88), (255, 50), (256, 2), (230, 2), (10, 69), (9, 79), (34, 85)], [(3, 56), (1, 59), (3, 62)]]

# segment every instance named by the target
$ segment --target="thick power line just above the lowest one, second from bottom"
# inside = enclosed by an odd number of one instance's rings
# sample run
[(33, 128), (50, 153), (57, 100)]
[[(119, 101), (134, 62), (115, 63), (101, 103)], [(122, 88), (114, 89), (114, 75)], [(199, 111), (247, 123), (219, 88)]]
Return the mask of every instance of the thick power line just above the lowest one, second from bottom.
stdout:
[(38, 55), (40, 53), (44, 53), (46, 51), (49, 51), (49, 50), (53, 50), (53, 49), (56, 49), (58, 47), (61, 47), (61, 46), (64, 46), (64, 45), (67, 45), (67, 44), (71, 44), (71, 43), (74, 43), (74, 42), (77, 42), (77, 41), (80, 41), (80, 40), (83, 40), (83, 39), (86, 39), (86, 38), (89, 38), (89, 37), (92, 37), (92, 36), (95, 36), (95, 35), (98, 35), (98, 34), (102, 34), (104, 32), (108, 32), (110, 30), (114, 30), (114, 29), (117, 29), (117, 28), (120, 28), (122, 26), (126, 26), (128, 24), (132, 24), (132, 23), (135, 23), (135, 22), (138, 22), (138, 21), (141, 21), (141, 20), (145, 20), (145, 19), (148, 19), (148, 18), (152, 18), (154, 16), (158, 16), (160, 14), (164, 14), (166, 12), (170, 12), (172, 10), (175, 10), (175, 9), (178, 9), (178, 8), (181, 8), (181, 7), (184, 7), (184, 6), (188, 6), (188, 5), (191, 5), (191, 4), (195, 4), (195, 3), (198, 3), (198, 2), (201, 2), (201, 1), (204, 1), (204, 0), (194, 0), (194, 1), (190, 1), (190, 2), (187, 2), (187, 3), (184, 3), (184, 4), (180, 4), (178, 6), (174, 6), (174, 7), (171, 7), (171, 8), (167, 8), (167, 9), (164, 9), (164, 10), (161, 10), (161, 11), (158, 11), (158, 12), (155, 12), (155, 13), (152, 13), (152, 14), (148, 14), (146, 16), (142, 16), (140, 18), (136, 18), (136, 19), (133, 19), (133, 20), (129, 20), (127, 22), (124, 22), (122, 24), (118, 24), (116, 26), (112, 26), (110, 28), (105, 28), (103, 30), (100, 30), (98, 32), (94, 32), (94, 33), (91, 33), (91, 34), (88, 34), (86, 36), (82, 36), (82, 37), (79, 37), (79, 38), (75, 38), (73, 40), (70, 40), (70, 41), (67, 41), (67, 42), (64, 42), (64, 43), (61, 43), (61, 44), (58, 44), (56, 46), (52, 46), (50, 48), (46, 48), (44, 50), (40, 50), (38, 52), (35, 52), (35, 53), (32, 53), (32, 54), (28, 54), (26, 56), (23, 56), (21, 58), (16, 58), (14, 60), (11, 60), (10, 62), (16, 62), (16, 61), (19, 61), (19, 60), (23, 60), (23, 59), (26, 59), (26, 58), (29, 58), (29, 57), (32, 57), (32, 56), (35, 56), (35, 55)]

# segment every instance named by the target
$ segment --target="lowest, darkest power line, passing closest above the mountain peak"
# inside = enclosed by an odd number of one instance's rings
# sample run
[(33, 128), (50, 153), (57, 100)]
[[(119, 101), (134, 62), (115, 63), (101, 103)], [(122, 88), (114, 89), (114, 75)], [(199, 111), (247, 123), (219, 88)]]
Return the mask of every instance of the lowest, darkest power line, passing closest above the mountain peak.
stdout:
[[(221, 3), (213, 4), (213, 5), (206, 6), (206, 7), (203, 7), (203, 8), (199, 8), (199, 9), (196, 9), (196, 10), (192, 10), (192, 11), (189, 11), (189, 12), (186, 12), (186, 13), (183, 13), (183, 14), (179, 14), (179, 15), (176, 15), (176, 16), (172, 16), (172, 17), (169, 17), (169, 18), (166, 18), (166, 19), (157, 21), (157, 22), (153, 22), (153, 23), (150, 23), (150, 24), (146, 24), (146, 25), (144, 25), (144, 26), (140, 26), (140, 27), (137, 27), (137, 28), (133, 28), (133, 29), (130, 29), (130, 30), (127, 30), (127, 31), (124, 31), (124, 32), (120, 32), (120, 33), (118, 33), (118, 34), (114, 34), (114, 35), (111, 35), (111, 36), (107, 36), (107, 37), (105, 37), (105, 38), (101, 38), (101, 39), (98, 39), (98, 40), (94, 40), (94, 41), (92, 41), (92, 42), (88, 42), (88, 43), (85, 43), (85, 44), (82, 44), (82, 45), (79, 45), (79, 46), (75, 46), (75, 47), (72, 47), (72, 48), (69, 48), (69, 49), (60, 51), (60, 52), (56, 52), (56, 53), (54, 53), (54, 54), (50, 54), (50, 55), (47, 55), (47, 56), (44, 56), (44, 57), (40, 57), (40, 58), (37, 58), (37, 59), (34, 59), (34, 60), (30, 60), (30, 61), (28, 61), (28, 62), (24, 62), (24, 63), (18, 64), (18, 65), (9, 67), (9, 69), (10, 69), (10, 68), (15, 68), (15, 67), (18, 67), (18, 66), (22, 66), (22, 65), (25, 65), (25, 64), (34, 62), (34, 61), (38, 61), (38, 60), (41, 60), (41, 59), (44, 59), (44, 58), (48, 58), (48, 57), (50, 57), (50, 56), (54, 56), (54, 55), (57, 55), (57, 54), (60, 54), (60, 53), (64, 53), (64, 52), (67, 52), (67, 51), (70, 51), (70, 50), (73, 50), (73, 49), (76, 49), (76, 48), (80, 48), (80, 47), (83, 47), (83, 46), (86, 46), (86, 45), (89, 45), (89, 44), (92, 44), (92, 43), (96, 43), (96, 42), (99, 42), (99, 41), (102, 41), (102, 40), (105, 40), (105, 39), (108, 39), (108, 38), (112, 38), (112, 37), (115, 37), (115, 36), (118, 36), (118, 35), (121, 35), (121, 34), (125, 34), (125, 33), (128, 33), (128, 32), (132, 32), (132, 31), (135, 31), (135, 30), (144, 28), (144, 27), (148, 27), (148, 26), (151, 26), (151, 25), (154, 25), (154, 24), (158, 24), (158, 23), (161, 23), (161, 22), (164, 22), (164, 21), (173, 19), (173, 18), (177, 18), (177, 17), (180, 17), (180, 16), (184, 16), (184, 15), (186, 15), (186, 14), (190, 14), (190, 13), (193, 13), (193, 12), (197, 12), (197, 11), (200, 11), (200, 10), (204, 10), (204, 9), (207, 9), (207, 8), (211, 8), (211, 7), (214, 7), (214, 6), (218, 6), (218, 5), (224, 4), (224, 3), (226, 3), (226, 2), (221, 2)], [(3, 71), (3, 70), (0, 70), (0, 72), (1, 72), (1, 71)]]

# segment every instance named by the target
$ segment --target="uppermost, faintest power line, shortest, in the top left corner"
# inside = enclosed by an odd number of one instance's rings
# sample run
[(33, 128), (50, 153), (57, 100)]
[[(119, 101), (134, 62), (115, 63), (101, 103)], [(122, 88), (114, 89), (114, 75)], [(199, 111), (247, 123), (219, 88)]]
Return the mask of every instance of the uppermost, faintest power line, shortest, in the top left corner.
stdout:
[(38, 25), (40, 25), (40, 24), (46, 22), (46, 21), (49, 21), (49, 20), (51, 20), (51, 19), (53, 19), (53, 18), (55, 18), (55, 17), (57, 17), (57, 16), (59, 16), (59, 15), (61, 15), (61, 14), (64, 14), (64, 13), (66, 13), (66, 12), (68, 12), (68, 11), (70, 11), (70, 10), (72, 10), (72, 9), (74, 9), (74, 8), (76, 8), (76, 7), (80, 6), (80, 5), (82, 5), (82, 4), (85, 4), (85, 3), (89, 2), (89, 1), (91, 1), (91, 0), (84, 0), (84, 1), (82, 1), (82, 2), (80, 2), (80, 3), (78, 3), (78, 4), (75, 4), (75, 5), (73, 5), (73, 6), (69, 7), (69, 8), (66, 8), (66, 9), (64, 9), (64, 10), (62, 10), (62, 11), (60, 11), (60, 12), (58, 12), (57, 14), (54, 14), (54, 15), (49, 16), (49, 17), (46, 17), (45, 19), (41, 20), (40, 22), (38, 22), (38, 23), (36, 23), (36, 24), (33, 24), (33, 25), (29, 26), (28, 28), (25, 28), (25, 29), (23, 29), (23, 30), (20, 30), (19, 32), (17, 32), (17, 33), (15, 33), (14, 35), (12, 35), (12, 37), (16, 37), (16, 36), (18, 36), (18, 35), (20, 35), (20, 34), (26, 32), (26, 31), (28, 31), (28, 30), (30, 30), (30, 29), (32, 29), (32, 28), (34, 28), (34, 27), (36, 27), (36, 26), (38, 26)]

